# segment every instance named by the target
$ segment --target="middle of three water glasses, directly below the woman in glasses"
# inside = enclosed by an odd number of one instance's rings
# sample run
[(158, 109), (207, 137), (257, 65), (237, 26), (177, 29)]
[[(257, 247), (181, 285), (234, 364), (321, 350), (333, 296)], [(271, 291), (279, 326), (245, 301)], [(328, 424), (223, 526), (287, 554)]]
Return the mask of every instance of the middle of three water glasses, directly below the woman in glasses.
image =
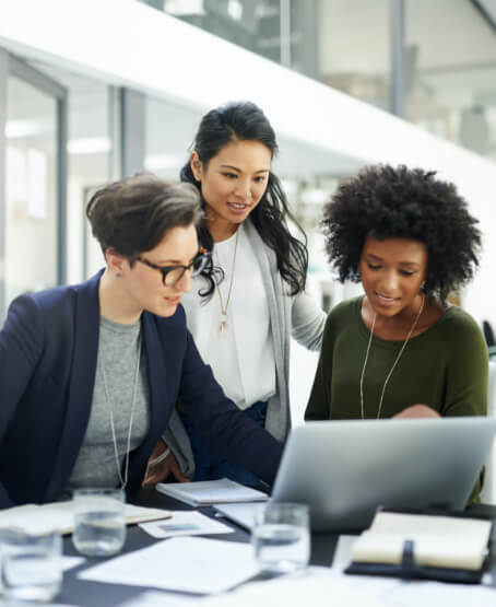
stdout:
[(126, 540), (125, 492), (75, 489), (72, 542), (86, 557), (116, 555)]

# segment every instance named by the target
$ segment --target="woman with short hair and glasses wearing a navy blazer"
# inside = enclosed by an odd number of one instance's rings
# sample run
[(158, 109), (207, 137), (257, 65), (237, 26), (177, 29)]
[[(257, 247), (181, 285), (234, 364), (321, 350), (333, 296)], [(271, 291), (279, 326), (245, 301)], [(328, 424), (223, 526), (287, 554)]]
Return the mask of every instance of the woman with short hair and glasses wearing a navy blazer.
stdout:
[(21, 295), (0, 331), (0, 507), (79, 487), (141, 487), (177, 402), (226, 456), (271, 482), (281, 445), (229, 401), (187, 330), (181, 296), (205, 271), (196, 188), (152, 176), (87, 205), (106, 267)]

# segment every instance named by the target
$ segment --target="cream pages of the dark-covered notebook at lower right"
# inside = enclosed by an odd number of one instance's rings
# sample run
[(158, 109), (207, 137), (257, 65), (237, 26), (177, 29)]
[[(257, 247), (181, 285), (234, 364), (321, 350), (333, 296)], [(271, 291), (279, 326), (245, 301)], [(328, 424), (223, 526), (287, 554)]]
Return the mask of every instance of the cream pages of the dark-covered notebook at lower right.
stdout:
[(378, 512), (352, 556), (356, 562), (400, 563), (410, 539), (417, 564), (476, 571), (487, 553), (491, 528), (491, 521), (480, 518)]

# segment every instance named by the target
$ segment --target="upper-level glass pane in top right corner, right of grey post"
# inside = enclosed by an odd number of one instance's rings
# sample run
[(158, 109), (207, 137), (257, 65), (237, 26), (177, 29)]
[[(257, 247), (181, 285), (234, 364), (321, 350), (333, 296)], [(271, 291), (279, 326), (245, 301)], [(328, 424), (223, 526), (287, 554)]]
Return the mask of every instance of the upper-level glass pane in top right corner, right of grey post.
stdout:
[(406, 1), (406, 118), (496, 160), (496, 34), (474, 4)]

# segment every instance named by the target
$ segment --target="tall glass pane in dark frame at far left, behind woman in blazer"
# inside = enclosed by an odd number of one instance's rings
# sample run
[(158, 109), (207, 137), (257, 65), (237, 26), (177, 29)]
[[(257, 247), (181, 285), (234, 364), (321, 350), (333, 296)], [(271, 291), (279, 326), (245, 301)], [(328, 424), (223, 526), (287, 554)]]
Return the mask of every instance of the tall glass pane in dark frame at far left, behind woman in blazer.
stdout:
[(57, 100), (8, 78), (5, 299), (58, 281)]

